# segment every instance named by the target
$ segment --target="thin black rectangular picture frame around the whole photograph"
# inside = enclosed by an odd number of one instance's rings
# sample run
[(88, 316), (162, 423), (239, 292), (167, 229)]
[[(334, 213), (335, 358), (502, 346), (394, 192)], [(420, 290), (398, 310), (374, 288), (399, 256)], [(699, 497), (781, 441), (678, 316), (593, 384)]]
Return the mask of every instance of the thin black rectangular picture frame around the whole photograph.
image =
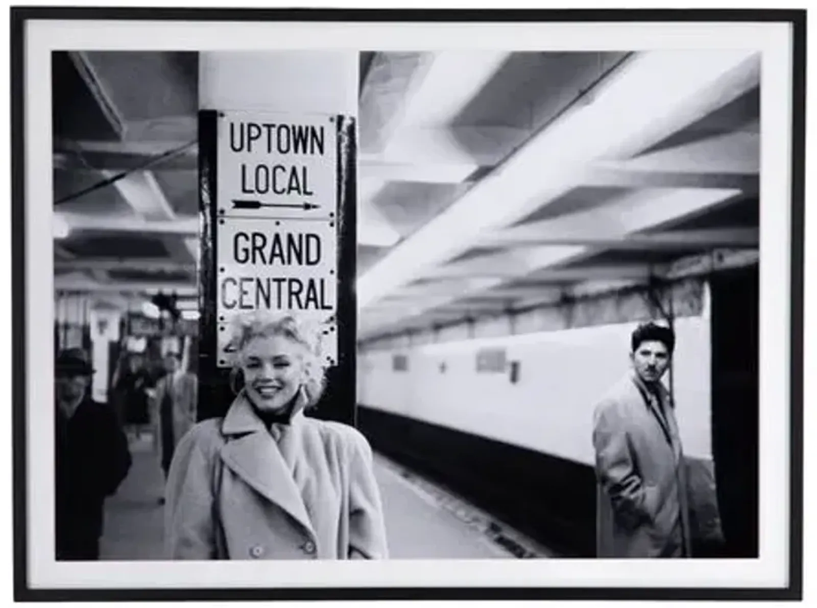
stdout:
[[(31, 20), (416, 21), (416, 22), (777, 22), (792, 28), (790, 538), (785, 588), (120, 588), (42, 589), (29, 585), (26, 486), (25, 31)], [(802, 597), (803, 304), (806, 114), (805, 10), (386, 10), (11, 7), (11, 222), (14, 597), (16, 601), (144, 600), (796, 600)]]

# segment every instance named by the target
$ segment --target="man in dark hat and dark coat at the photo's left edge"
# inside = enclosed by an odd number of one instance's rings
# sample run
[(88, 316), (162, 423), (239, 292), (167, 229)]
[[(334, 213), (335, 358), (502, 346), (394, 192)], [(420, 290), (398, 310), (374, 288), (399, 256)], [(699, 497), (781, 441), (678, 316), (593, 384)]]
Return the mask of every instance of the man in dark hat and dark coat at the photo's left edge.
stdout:
[(56, 357), (57, 560), (99, 559), (105, 497), (131, 468), (114, 411), (88, 394), (93, 373), (80, 348)]

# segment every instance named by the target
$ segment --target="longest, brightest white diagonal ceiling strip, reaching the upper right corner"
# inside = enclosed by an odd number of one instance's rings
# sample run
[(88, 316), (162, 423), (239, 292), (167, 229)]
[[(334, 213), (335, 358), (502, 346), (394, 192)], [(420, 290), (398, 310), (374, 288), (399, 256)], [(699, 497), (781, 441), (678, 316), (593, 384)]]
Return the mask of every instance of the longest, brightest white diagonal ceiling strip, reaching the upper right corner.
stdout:
[(360, 306), (463, 251), (480, 233), (554, 200), (574, 186), (588, 163), (618, 153), (636, 139), (652, 141), (734, 99), (757, 84), (759, 65), (752, 51), (636, 55), (609, 84), (593, 91), (592, 100), (536, 135), (360, 277)]

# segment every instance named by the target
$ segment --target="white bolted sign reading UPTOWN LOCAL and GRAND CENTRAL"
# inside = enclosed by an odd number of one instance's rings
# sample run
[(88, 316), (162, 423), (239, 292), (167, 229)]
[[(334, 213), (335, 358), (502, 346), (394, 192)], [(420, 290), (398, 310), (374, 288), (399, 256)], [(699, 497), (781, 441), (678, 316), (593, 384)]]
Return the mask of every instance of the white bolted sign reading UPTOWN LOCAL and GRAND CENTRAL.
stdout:
[(220, 112), (217, 318), (220, 367), (232, 365), (230, 322), (255, 310), (323, 327), (337, 362), (335, 116)]

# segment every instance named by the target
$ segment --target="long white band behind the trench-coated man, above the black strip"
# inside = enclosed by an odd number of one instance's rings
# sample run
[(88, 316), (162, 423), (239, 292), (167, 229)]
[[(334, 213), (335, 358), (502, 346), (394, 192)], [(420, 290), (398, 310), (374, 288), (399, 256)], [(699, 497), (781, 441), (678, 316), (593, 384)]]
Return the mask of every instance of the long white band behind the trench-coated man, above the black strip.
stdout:
[[(364, 353), (358, 402), (583, 464), (593, 463), (592, 415), (599, 398), (629, 369), (635, 323)], [(706, 317), (676, 320), (674, 391), (688, 455), (711, 458), (710, 326)], [(477, 353), (506, 348), (508, 371), (478, 373)], [(392, 357), (408, 357), (394, 371)], [(667, 379), (668, 380), (668, 379)]]

